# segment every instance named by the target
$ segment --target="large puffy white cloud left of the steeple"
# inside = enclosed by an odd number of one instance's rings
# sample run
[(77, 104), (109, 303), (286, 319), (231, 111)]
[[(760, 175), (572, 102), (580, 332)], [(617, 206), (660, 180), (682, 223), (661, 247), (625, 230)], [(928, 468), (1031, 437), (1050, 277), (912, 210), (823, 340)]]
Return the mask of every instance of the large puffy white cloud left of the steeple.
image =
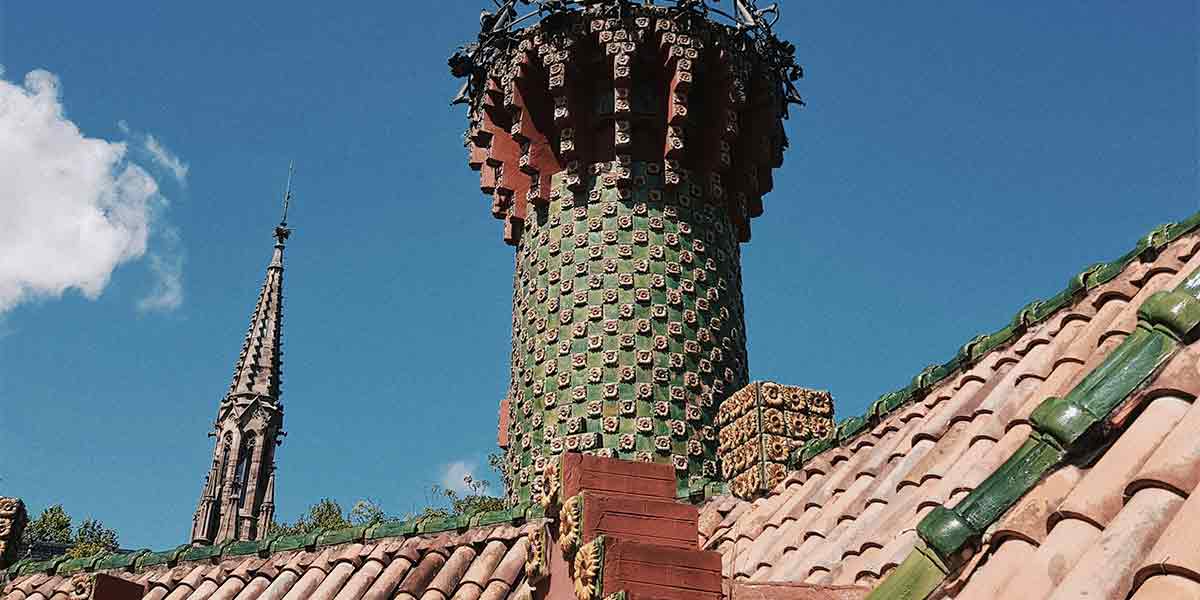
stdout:
[[(95, 299), (118, 265), (145, 256), (167, 200), (126, 154), (66, 118), (53, 73), (0, 79), (0, 314), (68, 289)], [(181, 299), (170, 288), (176, 265), (150, 266), (163, 306)]]

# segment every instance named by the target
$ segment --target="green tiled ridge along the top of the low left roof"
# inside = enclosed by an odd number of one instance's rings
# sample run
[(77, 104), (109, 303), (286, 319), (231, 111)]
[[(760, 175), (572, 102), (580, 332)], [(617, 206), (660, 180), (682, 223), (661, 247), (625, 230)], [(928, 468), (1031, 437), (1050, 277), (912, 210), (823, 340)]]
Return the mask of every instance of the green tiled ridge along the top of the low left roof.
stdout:
[(47, 560), (23, 559), (7, 569), (8, 580), (24, 575), (46, 572), (47, 575), (71, 575), (80, 571), (127, 570), (138, 572), (143, 569), (170, 565), (192, 560), (218, 562), (233, 557), (266, 558), (280, 552), (294, 550), (314, 551), (349, 542), (367, 542), (380, 539), (421, 536), (448, 532), (466, 533), (481, 527), (512, 524), (521, 526), (542, 518), (545, 510), (539, 503), (521, 503), (504, 510), (460, 515), (457, 517), (419, 516), (403, 521), (383, 522), (371, 526), (350, 526), (342, 528), (317, 529), (295, 535), (269, 535), (262, 540), (238, 541), (211, 546), (192, 546), (182, 544), (174, 548), (151, 551), (142, 548), (133, 552), (104, 553), (84, 558), (54, 557)]

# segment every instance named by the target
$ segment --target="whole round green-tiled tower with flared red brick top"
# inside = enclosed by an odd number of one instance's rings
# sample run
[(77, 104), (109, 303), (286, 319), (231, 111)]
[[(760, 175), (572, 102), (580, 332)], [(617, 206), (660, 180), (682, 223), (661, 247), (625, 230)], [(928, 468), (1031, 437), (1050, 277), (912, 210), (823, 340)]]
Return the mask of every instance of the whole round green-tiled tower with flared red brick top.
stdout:
[[(451, 59), (468, 77), (469, 164), (516, 247), (514, 500), (565, 450), (720, 480), (716, 408), (748, 383), (739, 244), (762, 212), (797, 101), (790, 44), (673, 6), (508, 2)], [(707, 11), (707, 10), (706, 10)]]

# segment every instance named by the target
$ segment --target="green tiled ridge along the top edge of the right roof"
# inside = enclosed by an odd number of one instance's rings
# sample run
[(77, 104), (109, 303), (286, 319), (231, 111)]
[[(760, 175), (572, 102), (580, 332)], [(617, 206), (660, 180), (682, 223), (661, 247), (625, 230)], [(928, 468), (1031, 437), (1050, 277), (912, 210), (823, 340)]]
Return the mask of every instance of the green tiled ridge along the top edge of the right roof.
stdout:
[(1200, 228), (1200, 211), (1176, 223), (1164, 223), (1138, 239), (1138, 244), (1121, 257), (1108, 263), (1094, 263), (1067, 280), (1062, 292), (1045, 300), (1033, 300), (1021, 307), (1008, 325), (992, 334), (980, 334), (959, 348), (954, 358), (929, 365), (913, 377), (908, 385), (883, 394), (871, 403), (866, 413), (850, 416), (839, 422), (823, 438), (810, 439), (793, 451), (792, 470), (834, 448), (841, 448), (858, 434), (869, 431), (893, 412), (905, 408), (925, 392), (950, 377), (977, 365), (994, 350), (1016, 341), (1031, 326), (1046, 322), (1060, 310), (1078, 302), (1087, 292), (1112, 281), (1135, 259), (1157, 256), (1171, 242)]

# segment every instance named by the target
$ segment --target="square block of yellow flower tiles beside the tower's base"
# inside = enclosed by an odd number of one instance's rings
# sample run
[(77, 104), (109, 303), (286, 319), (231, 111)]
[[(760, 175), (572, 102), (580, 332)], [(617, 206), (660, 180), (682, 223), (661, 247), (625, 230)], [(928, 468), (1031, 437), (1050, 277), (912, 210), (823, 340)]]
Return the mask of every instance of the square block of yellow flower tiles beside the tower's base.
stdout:
[(755, 382), (721, 402), (721, 476), (730, 491), (752, 498), (779, 484), (792, 450), (833, 428), (828, 391)]

